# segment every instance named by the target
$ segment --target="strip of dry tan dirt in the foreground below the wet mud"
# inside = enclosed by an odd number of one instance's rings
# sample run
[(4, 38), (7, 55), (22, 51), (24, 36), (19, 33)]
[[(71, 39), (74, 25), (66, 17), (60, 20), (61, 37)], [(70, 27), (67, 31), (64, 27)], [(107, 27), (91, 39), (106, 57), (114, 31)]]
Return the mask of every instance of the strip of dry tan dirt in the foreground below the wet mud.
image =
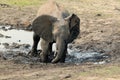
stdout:
[(119, 80), (120, 65), (15, 64), (0, 60), (0, 80)]

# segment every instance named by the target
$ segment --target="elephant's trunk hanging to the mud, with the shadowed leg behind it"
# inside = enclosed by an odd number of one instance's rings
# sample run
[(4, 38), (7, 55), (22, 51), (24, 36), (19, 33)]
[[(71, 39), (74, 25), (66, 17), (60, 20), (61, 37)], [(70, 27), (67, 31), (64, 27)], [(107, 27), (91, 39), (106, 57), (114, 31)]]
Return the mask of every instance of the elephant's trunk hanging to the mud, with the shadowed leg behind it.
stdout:
[(56, 42), (57, 54), (55, 58), (52, 60), (52, 63), (65, 62), (66, 53), (67, 53), (67, 43), (61, 39), (62, 38), (57, 39), (57, 42)]

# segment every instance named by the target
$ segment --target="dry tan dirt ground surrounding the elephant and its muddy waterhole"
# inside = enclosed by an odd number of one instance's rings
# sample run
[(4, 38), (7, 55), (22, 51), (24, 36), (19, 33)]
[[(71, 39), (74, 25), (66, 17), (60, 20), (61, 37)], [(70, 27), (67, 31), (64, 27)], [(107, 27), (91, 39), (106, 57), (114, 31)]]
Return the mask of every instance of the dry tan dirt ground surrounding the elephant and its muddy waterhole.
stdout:
[[(0, 80), (119, 80), (120, 1), (56, 0), (81, 19), (81, 33), (70, 47), (111, 55), (107, 64), (16, 64), (0, 56)], [(39, 5), (0, 5), (0, 25), (25, 28)], [(31, 35), (32, 36), (32, 35)]]

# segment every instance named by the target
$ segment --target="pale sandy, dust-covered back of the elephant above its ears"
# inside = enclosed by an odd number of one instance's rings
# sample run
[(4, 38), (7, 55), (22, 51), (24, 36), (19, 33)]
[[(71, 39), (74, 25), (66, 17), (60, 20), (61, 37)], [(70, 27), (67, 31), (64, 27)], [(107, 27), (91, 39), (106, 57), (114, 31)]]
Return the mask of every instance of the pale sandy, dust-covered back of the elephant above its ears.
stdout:
[(69, 12), (62, 6), (58, 5), (55, 1), (49, 0), (39, 8), (37, 17), (40, 15), (50, 15), (58, 19), (63, 19), (69, 16)]

